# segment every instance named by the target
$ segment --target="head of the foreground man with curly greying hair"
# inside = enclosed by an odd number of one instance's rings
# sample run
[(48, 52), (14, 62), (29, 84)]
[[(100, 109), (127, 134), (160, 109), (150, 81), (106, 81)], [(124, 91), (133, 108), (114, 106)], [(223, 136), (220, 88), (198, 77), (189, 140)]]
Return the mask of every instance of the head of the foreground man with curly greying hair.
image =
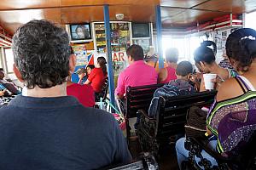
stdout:
[(66, 82), (75, 59), (67, 32), (47, 20), (32, 20), (13, 37), (14, 71), (27, 88), (51, 88)]

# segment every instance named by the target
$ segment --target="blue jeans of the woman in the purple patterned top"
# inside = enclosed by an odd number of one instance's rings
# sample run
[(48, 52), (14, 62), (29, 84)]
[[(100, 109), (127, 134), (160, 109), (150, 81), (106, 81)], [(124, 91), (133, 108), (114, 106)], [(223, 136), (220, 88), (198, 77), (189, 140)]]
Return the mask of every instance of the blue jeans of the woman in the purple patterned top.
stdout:
[[(177, 163), (178, 163), (178, 167), (179, 169), (181, 169), (181, 165), (183, 161), (188, 161), (188, 157), (189, 157), (189, 150), (186, 150), (184, 147), (184, 143), (185, 143), (185, 138), (181, 138), (177, 140), (176, 143), (176, 153), (177, 153)], [(217, 140), (211, 140), (209, 141), (208, 146), (212, 149), (216, 151), (216, 145), (217, 145)], [(208, 161), (212, 162), (212, 166), (213, 165), (218, 165), (217, 161), (210, 156), (209, 154), (207, 154), (207, 152), (205, 150), (201, 151), (201, 155), (204, 158), (207, 158)], [(199, 162), (201, 161), (199, 157), (195, 156), (195, 161)], [(203, 167), (201, 167), (203, 168)]]

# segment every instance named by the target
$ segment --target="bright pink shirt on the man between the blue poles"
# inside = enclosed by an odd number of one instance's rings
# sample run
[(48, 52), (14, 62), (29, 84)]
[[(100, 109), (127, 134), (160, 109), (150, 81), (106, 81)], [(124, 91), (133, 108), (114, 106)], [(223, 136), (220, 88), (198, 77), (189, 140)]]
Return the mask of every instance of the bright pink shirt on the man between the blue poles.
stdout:
[(144, 63), (143, 60), (135, 61), (119, 74), (115, 94), (124, 95), (128, 86), (145, 86), (157, 83), (157, 73), (154, 67)]

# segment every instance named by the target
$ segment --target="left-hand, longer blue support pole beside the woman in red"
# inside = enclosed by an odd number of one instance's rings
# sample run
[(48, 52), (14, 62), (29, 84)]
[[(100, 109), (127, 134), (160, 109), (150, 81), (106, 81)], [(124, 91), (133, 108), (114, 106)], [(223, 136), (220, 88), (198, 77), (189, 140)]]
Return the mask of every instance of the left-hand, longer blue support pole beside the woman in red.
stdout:
[[(109, 7), (104, 5), (104, 23), (105, 23), (105, 33), (107, 42), (107, 58), (108, 58), (108, 89), (110, 95), (110, 103), (115, 105), (114, 99), (114, 87), (113, 87), (113, 63), (112, 63), (112, 51), (111, 51), (111, 32), (109, 23)], [(113, 109), (112, 109), (113, 111)]]

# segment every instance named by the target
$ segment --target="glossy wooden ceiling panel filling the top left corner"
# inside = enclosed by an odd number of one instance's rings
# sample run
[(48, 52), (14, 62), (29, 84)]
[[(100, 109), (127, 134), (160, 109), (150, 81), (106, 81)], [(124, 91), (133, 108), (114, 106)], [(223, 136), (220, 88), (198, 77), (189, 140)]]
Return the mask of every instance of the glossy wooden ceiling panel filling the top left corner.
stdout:
[(0, 10), (59, 7), (61, 0), (1, 0)]

